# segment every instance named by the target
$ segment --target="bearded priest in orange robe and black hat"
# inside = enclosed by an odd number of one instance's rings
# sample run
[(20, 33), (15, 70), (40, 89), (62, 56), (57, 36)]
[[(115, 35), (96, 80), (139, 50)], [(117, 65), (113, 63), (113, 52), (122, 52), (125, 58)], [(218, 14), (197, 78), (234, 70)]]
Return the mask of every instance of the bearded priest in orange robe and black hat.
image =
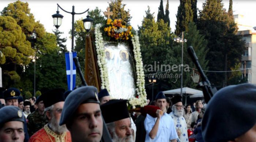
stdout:
[(71, 142), (71, 135), (66, 125), (59, 125), (65, 100), (64, 92), (64, 89), (58, 88), (43, 94), (42, 97), (48, 124), (32, 135), (29, 139), (30, 142)]

